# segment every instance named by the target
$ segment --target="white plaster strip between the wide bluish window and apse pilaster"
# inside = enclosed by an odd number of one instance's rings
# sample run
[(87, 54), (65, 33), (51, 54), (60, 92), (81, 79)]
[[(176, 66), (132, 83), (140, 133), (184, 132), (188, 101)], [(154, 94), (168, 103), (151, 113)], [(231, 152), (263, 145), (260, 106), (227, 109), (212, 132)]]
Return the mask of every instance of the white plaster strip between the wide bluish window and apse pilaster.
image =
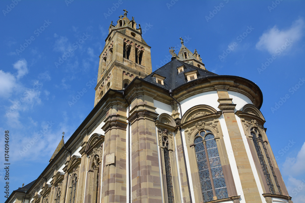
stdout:
[(220, 123), (221, 129), (222, 129), (222, 132), (223, 132), (224, 145), (226, 147), (226, 151), (227, 151), (227, 154), (228, 154), (229, 163), (230, 163), (230, 166), (231, 166), (237, 195), (240, 195), (240, 198), (241, 198), (240, 203), (246, 203), (244, 193), (242, 191), (242, 184), (240, 182), (239, 173), (238, 173), (238, 170), (237, 170), (237, 165), (236, 165), (236, 161), (235, 161), (235, 157), (234, 157), (229, 133), (228, 133), (227, 124), (226, 124), (226, 121), (224, 120), (224, 115), (223, 114), (221, 114), (221, 116), (219, 117), (219, 123)]

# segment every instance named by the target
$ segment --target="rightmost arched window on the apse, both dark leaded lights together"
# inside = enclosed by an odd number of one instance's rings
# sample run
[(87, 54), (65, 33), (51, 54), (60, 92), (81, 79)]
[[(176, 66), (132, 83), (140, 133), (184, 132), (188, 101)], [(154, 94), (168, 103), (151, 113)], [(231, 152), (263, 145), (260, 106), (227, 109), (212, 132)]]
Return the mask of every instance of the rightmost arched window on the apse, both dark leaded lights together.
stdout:
[[(257, 156), (260, 161), (260, 165), (262, 167), (269, 191), (271, 192), (271, 194), (276, 194), (276, 192), (274, 190), (274, 183), (275, 183), (277, 190), (279, 191), (280, 194), (282, 194), (281, 187), (278, 184), (278, 179), (275, 175), (267, 148), (263, 142), (263, 138), (261, 137), (261, 135), (258, 134), (258, 131), (255, 128), (251, 129), (251, 135), (253, 136), (252, 140), (253, 140), (255, 150), (257, 152)], [(264, 150), (262, 150), (262, 148)], [(265, 159), (267, 159), (267, 161)], [(272, 176), (270, 174), (272, 174)]]

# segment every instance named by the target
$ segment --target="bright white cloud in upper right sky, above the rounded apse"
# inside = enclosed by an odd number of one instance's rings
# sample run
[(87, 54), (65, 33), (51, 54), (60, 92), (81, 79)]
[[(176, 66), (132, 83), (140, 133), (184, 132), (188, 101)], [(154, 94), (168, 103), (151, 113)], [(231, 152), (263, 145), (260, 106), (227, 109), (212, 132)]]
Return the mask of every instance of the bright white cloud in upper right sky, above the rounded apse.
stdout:
[[(279, 47), (285, 45), (286, 40), (292, 41), (295, 44), (303, 36), (304, 20), (302, 18), (297, 19), (292, 23), (292, 26), (287, 30), (279, 30), (275, 25), (270, 30), (265, 31), (260, 40), (256, 44), (258, 50), (267, 50), (270, 54), (278, 53), (276, 50)], [(287, 50), (291, 49), (292, 44), (286, 45)]]

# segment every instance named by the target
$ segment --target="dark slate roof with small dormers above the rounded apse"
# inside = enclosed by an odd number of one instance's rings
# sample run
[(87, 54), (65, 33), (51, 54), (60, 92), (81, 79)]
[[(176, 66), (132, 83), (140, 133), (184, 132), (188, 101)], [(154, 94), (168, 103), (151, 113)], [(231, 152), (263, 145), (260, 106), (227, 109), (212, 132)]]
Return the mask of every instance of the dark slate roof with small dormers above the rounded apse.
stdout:
[[(178, 73), (177, 68), (181, 67), (182, 65), (184, 65), (184, 71)], [(184, 73), (195, 71), (195, 70), (198, 71), (197, 79), (217, 75), (210, 71), (203, 70), (202, 68), (198, 68), (196, 66), (193, 66), (188, 63), (174, 59), (174, 60), (170, 61), (169, 63), (163, 65), (161, 68), (158, 68), (155, 72), (152, 72), (151, 74), (149, 74), (143, 80), (145, 80), (147, 82), (151, 82), (164, 89), (168, 89), (168, 90), (175, 89), (188, 82), (187, 79), (185, 79)], [(152, 77), (153, 74), (157, 74), (157, 75), (165, 77), (165, 79), (163, 80), (164, 85), (160, 85), (160, 84), (156, 83), (156, 78)]]

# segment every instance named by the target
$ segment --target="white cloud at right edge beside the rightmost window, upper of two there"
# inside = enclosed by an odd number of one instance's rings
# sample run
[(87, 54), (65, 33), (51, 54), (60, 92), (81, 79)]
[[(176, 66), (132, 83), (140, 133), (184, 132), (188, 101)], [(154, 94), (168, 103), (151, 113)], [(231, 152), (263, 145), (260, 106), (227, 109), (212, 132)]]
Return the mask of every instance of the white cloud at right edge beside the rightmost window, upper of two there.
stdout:
[(305, 142), (296, 157), (287, 157), (283, 164), (285, 174), (300, 175), (305, 172)]

